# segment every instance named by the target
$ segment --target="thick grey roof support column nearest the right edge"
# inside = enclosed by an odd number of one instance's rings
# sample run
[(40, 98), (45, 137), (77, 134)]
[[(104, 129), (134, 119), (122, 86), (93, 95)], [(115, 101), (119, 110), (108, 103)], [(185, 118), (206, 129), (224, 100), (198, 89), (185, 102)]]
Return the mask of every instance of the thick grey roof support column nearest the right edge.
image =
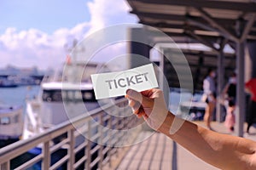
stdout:
[(244, 91), (244, 49), (245, 42), (236, 42), (236, 135), (243, 136), (243, 123), (245, 120), (245, 91)]

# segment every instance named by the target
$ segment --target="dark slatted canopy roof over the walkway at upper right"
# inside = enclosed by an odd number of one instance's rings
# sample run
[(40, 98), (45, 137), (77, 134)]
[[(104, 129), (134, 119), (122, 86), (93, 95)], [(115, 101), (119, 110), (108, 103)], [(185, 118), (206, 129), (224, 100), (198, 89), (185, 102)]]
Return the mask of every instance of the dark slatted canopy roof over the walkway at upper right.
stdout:
[[(139, 22), (172, 37), (217, 41), (256, 40), (256, 1), (253, 0), (127, 0)], [(200, 38), (201, 37), (201, 38)], [(203, 42), (206, 44), (205, 42)]]

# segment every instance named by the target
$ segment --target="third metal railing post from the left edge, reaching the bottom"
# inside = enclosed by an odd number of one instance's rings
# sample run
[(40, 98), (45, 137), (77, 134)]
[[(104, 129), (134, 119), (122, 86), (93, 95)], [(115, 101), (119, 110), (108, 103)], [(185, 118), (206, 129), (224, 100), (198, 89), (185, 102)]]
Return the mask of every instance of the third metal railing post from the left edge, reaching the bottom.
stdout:
[(68, 131), (68, 140), (69, 140), (69, 149), (68, 149), (68, 155), (69, 160), (67, 163), (67, 169), (73, 170), (73, 164), (75, 162), (75, 156), (74, 156), (74, 145), (75, 145), (75, 137), (74, 137), (74, 129), (70, 129)]

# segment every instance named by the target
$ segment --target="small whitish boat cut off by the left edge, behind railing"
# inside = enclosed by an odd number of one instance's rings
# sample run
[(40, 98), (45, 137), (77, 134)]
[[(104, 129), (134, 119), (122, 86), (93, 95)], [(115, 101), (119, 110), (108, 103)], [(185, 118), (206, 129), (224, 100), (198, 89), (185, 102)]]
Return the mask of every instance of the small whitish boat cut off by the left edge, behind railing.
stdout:
[(0, 105), (0, 148), (18, 141), (22, 135), (21, 105)]

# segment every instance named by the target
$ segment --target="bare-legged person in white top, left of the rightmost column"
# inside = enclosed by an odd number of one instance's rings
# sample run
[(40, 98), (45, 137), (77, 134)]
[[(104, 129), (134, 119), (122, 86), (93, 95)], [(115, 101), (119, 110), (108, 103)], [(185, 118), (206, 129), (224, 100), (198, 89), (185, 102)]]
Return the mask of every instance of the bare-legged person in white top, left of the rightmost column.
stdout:
[(214, 80), (215, 77), (216, 72), (212, 69), (209, 69), (207, 72), (207, 77), (203, 81), (204, 95), (207, 96), (207, 108), (204, 115), (204, 122), (206, 122), (206, 125), (209, 129), (212, 129), (210, 122), (212, 119), (212, 113), (216, 105), (216, 85)]

